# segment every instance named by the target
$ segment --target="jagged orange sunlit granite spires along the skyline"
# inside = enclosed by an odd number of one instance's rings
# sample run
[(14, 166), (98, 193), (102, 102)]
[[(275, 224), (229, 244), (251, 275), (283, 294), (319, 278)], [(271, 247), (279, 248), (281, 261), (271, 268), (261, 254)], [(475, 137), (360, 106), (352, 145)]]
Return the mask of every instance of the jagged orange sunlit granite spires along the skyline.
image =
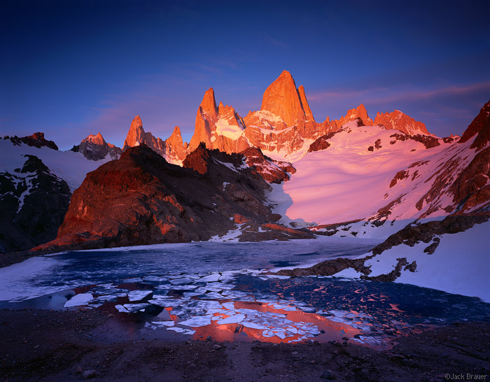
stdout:
[(293, 76), (283, 71), (265, 90), (259, 111), (250, 111), (241, 118), (232, 106), (222, 102), (217, 106), (214, 89), (210, 87), (197, 108), (195, 131), (188, 144), (176, 139), (180, 134), (175, 131), (167, 141), (155, 138), (144, 131), (141, 118), (137, 116), (127, 134), (125, 148), (145, 143), (167, 161), (181, 164), (186, 155), (200, 143), (229, 154), (255, 147), (274, 160), (290, 162), (305, 155), (311, 143), (319, 137), (337, 132), (343, 125), (357, 118), (363, 120), (365, 125), (379, 123), (386, 129), (398, 129), (409, 135), (428, 134), (422, 122), (400, 111), (378, 113), (378, 119), (373, 122), (363, 104), (349, 110), (339, 120), (326, 117), (324, 122), (316, 122), (304, 87), (296, 87)]

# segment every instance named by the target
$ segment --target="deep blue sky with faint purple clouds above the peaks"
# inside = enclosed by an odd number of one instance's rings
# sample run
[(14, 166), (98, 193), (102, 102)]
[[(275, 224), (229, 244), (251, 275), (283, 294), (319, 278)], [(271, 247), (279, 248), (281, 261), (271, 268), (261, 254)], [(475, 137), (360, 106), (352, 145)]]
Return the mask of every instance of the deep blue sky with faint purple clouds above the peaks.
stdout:
[(245, 116), (284, 69), (318, 122), (365, 104), (462, 134), (490, 99), (490, 1), (3, 1), (1, 135), (62, 149), (134, 115), (193, 134), (204, 92)]

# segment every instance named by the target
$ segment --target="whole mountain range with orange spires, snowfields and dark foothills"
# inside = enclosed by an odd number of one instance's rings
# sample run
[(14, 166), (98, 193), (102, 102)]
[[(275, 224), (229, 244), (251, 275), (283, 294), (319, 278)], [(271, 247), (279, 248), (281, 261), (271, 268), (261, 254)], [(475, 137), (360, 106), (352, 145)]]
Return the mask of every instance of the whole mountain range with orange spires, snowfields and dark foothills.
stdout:
[[(444, 229), (488, 220), (489, 114), (490, 101), (463, 136), (445, 138), (401, 111), (372, 120), (362, 104), (339, 120), (316, 122), (304, 88), (283, 71), (265, 90), (260, 111), (244, 118), (216, 106), (207, 90), (189, 143), (179, 127), (165, 140), (145, 132), (139, 116), (122, 149), (100, 133), (66, 152), (42, 133), (5, 137), (1, 248), (315, 234), (389, 236), (396, 246), (407, 243), (407, 232), (413, 243), (417, 235), (435, 243)], [(424, 225), (448, 216), (465, 224)]]

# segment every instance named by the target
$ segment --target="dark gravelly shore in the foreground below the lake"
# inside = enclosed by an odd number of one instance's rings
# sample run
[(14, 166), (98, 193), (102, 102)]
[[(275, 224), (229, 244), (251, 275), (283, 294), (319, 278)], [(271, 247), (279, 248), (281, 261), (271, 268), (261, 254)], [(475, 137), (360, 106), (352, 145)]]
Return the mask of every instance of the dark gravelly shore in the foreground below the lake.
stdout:
[[(490, 378), (490, 323), (454, 323), (393, 348), (329, 343), (165, 342), (119, 332), (102, 311), (0, 310), (2, 381), (444, 381)], [(56, 327), (57, 330), (52, 330)], [(111, 328), (111, 329), (108, 329)], [(461, 380), (461, 379), (460, 379)]]

